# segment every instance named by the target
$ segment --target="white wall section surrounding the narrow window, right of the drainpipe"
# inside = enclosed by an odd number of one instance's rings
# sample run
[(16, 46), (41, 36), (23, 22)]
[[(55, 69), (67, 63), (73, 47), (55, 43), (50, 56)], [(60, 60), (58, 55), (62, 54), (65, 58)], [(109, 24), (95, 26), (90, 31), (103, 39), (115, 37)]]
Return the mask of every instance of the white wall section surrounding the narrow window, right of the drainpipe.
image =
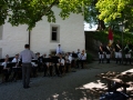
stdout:
[[(62, 20), (59, 17), (60, 10), (54, 8), (57, 22), (49, 23), (47, 18), (37, 23), (31, 33), (31, 49), (35, 52), (49, 53), (60, 43), (63, 51), (76, 51), (79, 48), (85, 49), (83, 16), (71, 14)], [(50, 42), (50, 24), (60, 26), (60, 42)], [(43, 29), (43, 30), (42, 30)]]

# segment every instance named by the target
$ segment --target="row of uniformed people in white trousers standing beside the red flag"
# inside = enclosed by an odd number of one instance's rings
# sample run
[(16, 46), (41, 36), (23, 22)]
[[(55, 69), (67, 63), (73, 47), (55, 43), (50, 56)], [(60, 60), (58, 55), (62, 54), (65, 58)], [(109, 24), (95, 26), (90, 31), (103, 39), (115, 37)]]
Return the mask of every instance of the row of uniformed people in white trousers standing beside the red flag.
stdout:
[(99, 47), (99, 63), (103, 63), (104, 59), (106, 59), (106, 63), (110, 63), (110, 60), (114, 57), (116, 63), (132, 64), (132, 50), (133, 46), (130, 41), (123, 47), (119, 40), (113, 44), (103, 46), (101, 43)]

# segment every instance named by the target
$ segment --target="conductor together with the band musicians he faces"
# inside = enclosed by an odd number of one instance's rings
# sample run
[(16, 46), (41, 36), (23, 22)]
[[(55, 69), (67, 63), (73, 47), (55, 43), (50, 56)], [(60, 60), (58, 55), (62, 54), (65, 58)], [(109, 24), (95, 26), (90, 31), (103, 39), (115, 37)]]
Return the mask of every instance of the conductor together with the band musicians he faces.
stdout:
[[(78, 49), (76, 52), (66, 52), (63, 53), (61, 49), (61, 44), (57, 48), (57, 53), (53, 54), (43, 54), (41, 56), (40, 52), (33, 53), (29, 48), (29, 44), (24, 46), (24, 50), (21, 51), (19, 54), (12, 59), (11, 62), (16, 63), (16, 68), (21, 66), (22, 71), (22, 83), (23, 88), (30, 88), (30, 77), (31, 71), (35, 76), (37, 71), (43, 72), (43, 77), (52, 77), (59, 76), (62, 77), (63, 73), (71, 71), (71, 68), (81, 68), (83, 69), (84, 61), (86, 60), (86, 53), (84, 50), (80, 51)], [(7, 67), (9, 63), (9, 56), (6, 56), (4, 62), (1, 63), (3, 66), (3, 70), (6, 70), (6, 81), (9, 79), (12, 70)], [(13, 70), (12, 80), (17, 78), (17, 71)]]

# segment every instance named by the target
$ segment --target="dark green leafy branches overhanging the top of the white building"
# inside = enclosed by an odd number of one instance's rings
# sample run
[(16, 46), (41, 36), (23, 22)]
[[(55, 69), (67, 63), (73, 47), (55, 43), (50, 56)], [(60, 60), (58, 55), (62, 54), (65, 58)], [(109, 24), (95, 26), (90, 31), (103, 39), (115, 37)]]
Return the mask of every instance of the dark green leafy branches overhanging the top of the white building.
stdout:
[(92, 0), (0, 0), (0, 24), (6, 20), (12, 26), (28, 24), (32, 30), (35, 23), (45, 16), (49, 22), (55, 22), (52, 7), (61, 9), (60, 17), (65, 19), (70, 13), (86, 14)]

